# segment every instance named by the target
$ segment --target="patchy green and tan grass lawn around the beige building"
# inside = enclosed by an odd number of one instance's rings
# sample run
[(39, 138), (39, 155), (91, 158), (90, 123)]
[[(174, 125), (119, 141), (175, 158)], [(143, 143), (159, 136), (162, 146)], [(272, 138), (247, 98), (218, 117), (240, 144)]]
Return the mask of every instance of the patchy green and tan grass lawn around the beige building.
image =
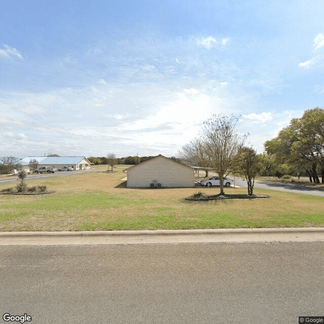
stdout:
[[(255, 189), (270, 198), (189, 201), (185, 197), (219, 188), (129, 189), (127, 166), (115, 173), (76, 172), (73, 176), (29, 180), (55, 193), (0, 195), (0, 231), (190, 229), (324, 226), (324, 198)], [(0, 190), (14, 184), (0, 184)], [(246, 193), (225, 188), (225, 193)]]

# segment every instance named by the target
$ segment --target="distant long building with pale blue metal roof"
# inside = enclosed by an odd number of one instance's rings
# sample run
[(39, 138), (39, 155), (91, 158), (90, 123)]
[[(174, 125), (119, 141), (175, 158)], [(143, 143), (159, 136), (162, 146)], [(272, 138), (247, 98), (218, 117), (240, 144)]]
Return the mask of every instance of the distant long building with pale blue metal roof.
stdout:
[(21, 158), (22, 169), (29, 170), (29, 161), (36, 160), (38, 167), (73, 167), (74, 170), (91, 169), (91, 162), (85, 156), (26, 156)]

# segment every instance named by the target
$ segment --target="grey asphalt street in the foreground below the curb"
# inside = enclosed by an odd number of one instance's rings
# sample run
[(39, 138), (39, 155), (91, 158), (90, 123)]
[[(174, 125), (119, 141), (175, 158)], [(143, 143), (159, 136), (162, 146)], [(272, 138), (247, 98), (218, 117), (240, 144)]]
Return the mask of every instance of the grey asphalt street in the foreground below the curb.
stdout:
[(323, 248), (3, 246), (1, 316), (27, 313), (32, 324), (298, 323), (324, 315)]

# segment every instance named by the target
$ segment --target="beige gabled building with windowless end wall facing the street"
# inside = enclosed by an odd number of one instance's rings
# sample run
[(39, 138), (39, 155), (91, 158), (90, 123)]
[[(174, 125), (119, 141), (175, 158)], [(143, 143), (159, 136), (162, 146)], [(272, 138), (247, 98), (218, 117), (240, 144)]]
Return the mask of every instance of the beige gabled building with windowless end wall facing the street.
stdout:
[(194, 170), (163, 155), (123, 171), (129, 188), (194, 187)]

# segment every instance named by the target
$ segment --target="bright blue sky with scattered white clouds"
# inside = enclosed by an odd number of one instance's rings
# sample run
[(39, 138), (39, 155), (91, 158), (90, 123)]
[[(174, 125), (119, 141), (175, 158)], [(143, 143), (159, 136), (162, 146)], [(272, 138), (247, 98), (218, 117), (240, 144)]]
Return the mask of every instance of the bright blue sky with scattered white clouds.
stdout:
[(324, 99), (322, 0), (3, 0), (0, 156), (174, 156), (213, 114), (264, 143)]

